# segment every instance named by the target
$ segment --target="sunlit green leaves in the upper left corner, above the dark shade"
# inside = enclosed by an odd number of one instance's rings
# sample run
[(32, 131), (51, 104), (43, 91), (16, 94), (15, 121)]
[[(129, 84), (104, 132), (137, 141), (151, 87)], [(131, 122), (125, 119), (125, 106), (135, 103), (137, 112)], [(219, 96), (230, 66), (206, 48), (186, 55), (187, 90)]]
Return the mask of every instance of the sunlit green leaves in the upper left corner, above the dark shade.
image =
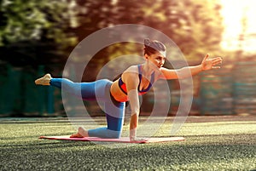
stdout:
[[(73, 16), (66, 0), (3, 0), (1, 4), (1, 45), (49, 38), (55, 43), (68, 43), (65, 31)], [(64, 38), (65, 37), (65, 38)]]

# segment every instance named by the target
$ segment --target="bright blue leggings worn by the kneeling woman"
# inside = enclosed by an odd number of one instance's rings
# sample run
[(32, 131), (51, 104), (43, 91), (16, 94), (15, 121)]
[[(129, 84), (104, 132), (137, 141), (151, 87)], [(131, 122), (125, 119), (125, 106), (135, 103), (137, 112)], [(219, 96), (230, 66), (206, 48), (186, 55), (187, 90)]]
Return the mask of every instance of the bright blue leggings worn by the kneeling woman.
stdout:
[(91, 83), (73, 83), (66, 78), (52, 78), (49, 83), (70, 94), (82, 96), (83, 100), (101, 100), (104, 102), (108, 127), (88, 130), (90, 137), (118, 139), (121, 136), (125, 118), (125, 102), (113, 99), (110, 94), (110, 87), (113, 82), (102, 79)]

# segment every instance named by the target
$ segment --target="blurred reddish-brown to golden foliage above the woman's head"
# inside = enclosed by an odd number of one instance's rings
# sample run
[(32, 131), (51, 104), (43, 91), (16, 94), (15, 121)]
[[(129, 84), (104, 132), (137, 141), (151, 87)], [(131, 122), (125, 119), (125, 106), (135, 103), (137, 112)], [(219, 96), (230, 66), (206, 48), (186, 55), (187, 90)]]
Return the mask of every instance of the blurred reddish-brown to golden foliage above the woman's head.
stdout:
[[(177, 43), (188, 60), (201, 60), (204, 54), (219, 52), (223, 27), (218, 0), (77, 2), (79, 40), (103, 27), (129, 23), (162, 31)], [(138, 54), (141, 50), (134, 48), (130, 53)], [(126, 54), (125, 51), (121, 45), (115, 45), (108, 49), (108, 54), (116, 56)]]

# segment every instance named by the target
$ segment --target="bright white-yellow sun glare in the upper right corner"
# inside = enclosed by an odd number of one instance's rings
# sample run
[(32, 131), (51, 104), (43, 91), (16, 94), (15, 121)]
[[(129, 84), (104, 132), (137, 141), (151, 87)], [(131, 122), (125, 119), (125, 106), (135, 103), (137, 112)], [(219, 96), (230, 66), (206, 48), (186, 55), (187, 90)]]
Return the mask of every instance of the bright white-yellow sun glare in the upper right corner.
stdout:
[[(256, 1), (221, 0), (221, 3), (224, 20), (223, 48), (256, 53)], [(242, 42), (239, 41), (241, 34), (244, 37)]]

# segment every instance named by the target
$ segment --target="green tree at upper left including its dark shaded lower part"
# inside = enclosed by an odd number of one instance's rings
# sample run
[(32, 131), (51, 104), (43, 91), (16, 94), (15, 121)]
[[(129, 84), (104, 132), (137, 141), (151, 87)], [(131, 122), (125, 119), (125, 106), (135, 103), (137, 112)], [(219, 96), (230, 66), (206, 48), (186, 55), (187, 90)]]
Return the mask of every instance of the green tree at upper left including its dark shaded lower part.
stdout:
[(60, 62), (77, 43), (67, 0), (3, 0), (0, 9), (1, 60), (15, 66)]

